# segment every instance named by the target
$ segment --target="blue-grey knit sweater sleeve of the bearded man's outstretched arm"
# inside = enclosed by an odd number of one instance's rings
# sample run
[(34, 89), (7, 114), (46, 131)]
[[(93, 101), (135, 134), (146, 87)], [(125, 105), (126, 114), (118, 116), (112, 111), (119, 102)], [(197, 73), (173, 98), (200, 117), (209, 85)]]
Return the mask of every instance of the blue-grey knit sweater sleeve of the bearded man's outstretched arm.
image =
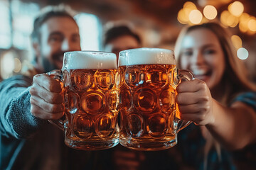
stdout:
[(0, 84), (0, 132), (6, 137), (28, 138), (46, 122), (31, 114), (32, 79), (15, 76)]

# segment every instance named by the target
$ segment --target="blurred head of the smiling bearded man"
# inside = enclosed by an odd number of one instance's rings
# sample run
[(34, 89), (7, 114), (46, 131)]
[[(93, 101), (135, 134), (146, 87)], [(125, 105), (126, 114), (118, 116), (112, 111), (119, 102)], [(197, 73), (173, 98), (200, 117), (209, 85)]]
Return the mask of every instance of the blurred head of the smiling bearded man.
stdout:
[(50, 12), (37, 18), (32, 38), (40, 73), (61, 69), (64, 52), (80, 50), (78, 25), (68, 13)]

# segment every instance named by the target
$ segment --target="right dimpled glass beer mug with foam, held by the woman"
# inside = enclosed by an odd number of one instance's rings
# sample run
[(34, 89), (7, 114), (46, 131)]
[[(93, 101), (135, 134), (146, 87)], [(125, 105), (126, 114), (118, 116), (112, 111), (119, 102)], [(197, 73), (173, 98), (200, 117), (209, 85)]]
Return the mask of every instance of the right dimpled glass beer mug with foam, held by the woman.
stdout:
[(174, 52), (138, 48), (119, 53), (119, 142), (136, 150), (161, 150), (177, 143), (190, 122), (180, 120), (176, 86), (193, 73), (176, 68)]

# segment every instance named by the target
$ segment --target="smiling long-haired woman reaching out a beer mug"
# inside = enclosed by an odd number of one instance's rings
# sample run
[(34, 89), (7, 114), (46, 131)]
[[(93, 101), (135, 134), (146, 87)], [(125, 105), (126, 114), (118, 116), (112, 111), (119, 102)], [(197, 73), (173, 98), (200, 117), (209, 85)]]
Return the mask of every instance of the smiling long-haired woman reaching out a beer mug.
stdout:
[[(178, 67), (190, 69), (196, 77), (178, 85), (176, 102), (181, 119), (198, 125), (181, 131), (179, 142), (190, 156), (185, 162), (200, 165), (198, 169), (234, 169), (232, 164), (256, 169), (255, 85), (247, 79), (230, 37), (218, 23), (203, 23), (184, 28), (176, 41)], [(246, 145), (250, 146), (242, 149)], [(221, 146), (240, 151), (231, 160)], [(218, 162), (221, 166), (214, 166)]]

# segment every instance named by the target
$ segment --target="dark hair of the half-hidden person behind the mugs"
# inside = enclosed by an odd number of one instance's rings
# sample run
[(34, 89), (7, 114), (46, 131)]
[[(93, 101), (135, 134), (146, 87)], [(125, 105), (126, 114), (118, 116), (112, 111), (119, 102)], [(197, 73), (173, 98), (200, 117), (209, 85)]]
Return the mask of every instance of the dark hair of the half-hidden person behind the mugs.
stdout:
[(106, 31), (103, 45), (105, 46), (112, 40), (124, 35), (132, 36), (137, 40), (137, 42), (139, 42), (139, 44), (141, 44), (141, 39), (139, 38), (139, 35), (137, 35), (137, 33), (134, 33), (128, 26), (114, 26)]

